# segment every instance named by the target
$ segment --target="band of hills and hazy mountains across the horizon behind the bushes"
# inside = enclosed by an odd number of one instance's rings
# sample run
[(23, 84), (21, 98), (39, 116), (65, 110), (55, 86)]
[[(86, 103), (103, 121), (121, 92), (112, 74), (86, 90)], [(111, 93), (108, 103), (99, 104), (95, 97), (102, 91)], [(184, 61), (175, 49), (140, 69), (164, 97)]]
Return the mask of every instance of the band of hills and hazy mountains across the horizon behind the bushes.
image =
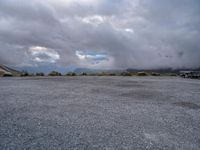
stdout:
[[(137, 73), (137, 72), (157, 72), (161, 74), (165, 73), (176, 73), (178, 74), (180, 71), (200, 71), (200, 67), (196, 69), (190, 69), (190, 68), (179, 68), (179, 69), (172, 69), (172, 68), (160, 68), (160, 69), (134, 69), (134, 68), (128, 68), (128, 69), (91, 69), (91, 68), (67, 68), (67, 67), (49, 67), (44, 69), (45, 67), (42, 68), (15, 68), (12, 69), (11, 67), (7, 67), (5, 65), (0, 65), (0, 76), (4, 75), (10, 75), (10, 76), (20, 76), (23, 72), (23, 70), (27, 71), (28, 73), (35, 74), (37, 72), (43, 72), (45, 74), (48, 74), (49, 72), (55, 70), (58, 72), (61, 72), (62, 74), (66, 74), (68, 72), (74, 72), (76, 74), (82, 74), (82, 73), (88, 73), (88, 74), (95, 74), (95, 73), (115, 73), (115, 74), (120, 74), (122, 72), (129, 72), (129, 73)], [(20, 71), (17, 71), (20, 70)]]

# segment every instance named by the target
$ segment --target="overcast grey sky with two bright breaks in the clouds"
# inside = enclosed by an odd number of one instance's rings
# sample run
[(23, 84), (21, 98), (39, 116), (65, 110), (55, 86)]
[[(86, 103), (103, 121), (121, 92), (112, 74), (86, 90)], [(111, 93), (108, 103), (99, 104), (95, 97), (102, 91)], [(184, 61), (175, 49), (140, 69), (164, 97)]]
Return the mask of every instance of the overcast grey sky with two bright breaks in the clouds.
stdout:
[(199, 0), (0, 0), (0, 64), (200, 67)]

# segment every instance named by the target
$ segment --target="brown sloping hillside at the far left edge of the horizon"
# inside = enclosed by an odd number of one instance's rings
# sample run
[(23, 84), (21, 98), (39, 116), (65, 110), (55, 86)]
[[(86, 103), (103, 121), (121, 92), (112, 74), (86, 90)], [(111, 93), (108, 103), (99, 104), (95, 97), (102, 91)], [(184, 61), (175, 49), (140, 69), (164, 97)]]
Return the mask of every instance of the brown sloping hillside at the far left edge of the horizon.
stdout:
[(20, 76), (21, 72), (9, 68), (4, 65), (0, 65), (0, 76)]

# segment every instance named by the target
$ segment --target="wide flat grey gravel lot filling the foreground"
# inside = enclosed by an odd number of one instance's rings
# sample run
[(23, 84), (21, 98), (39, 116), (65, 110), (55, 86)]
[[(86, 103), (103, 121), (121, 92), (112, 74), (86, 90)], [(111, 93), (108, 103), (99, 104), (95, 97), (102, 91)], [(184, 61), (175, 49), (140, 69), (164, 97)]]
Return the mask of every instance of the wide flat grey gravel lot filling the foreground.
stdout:
[(199, 150), (200, 80), (0, 78), (0, 149)]

